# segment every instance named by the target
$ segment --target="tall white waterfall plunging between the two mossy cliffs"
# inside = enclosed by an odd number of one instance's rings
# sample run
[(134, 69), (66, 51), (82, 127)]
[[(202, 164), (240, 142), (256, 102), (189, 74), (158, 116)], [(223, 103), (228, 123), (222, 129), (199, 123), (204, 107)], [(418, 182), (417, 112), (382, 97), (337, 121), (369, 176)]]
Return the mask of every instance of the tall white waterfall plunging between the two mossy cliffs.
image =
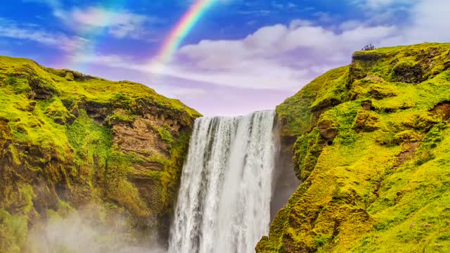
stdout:
[(170, 253), (248, 253), (269, 233), (274, 111), (194, 124)]

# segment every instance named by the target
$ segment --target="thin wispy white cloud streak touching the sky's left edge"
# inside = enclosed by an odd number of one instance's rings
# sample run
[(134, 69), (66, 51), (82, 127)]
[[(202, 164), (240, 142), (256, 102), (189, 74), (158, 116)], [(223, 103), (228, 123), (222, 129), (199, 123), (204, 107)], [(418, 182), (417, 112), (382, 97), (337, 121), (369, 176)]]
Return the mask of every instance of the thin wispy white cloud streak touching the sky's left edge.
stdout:
[(46, 46), (55, 46), (64, 51), (75, 51), (88, 42), (82, 37), (68, 37), (65, 34), (48, 32), (32, 24), (18, 25), (16, 22), (4, 18), (0, 18), (0, 37), (25, 39)]

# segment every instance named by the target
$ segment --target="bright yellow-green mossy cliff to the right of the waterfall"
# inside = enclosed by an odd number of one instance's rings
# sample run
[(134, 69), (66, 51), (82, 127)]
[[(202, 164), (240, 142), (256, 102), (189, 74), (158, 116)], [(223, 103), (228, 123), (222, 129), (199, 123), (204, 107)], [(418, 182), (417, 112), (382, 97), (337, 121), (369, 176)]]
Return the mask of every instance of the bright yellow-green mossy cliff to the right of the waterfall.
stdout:
[(276, 112), (303, 183), (257, 252), (450, 252), (450, 44), (356, 52)]

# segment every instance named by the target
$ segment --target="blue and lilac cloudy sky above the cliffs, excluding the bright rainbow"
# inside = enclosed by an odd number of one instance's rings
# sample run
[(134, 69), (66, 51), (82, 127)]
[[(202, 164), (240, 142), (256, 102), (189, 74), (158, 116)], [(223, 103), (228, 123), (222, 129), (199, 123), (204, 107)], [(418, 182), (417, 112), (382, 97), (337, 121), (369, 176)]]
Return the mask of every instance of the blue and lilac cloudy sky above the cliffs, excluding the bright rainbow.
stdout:
[(139, 82), (231, 116), (274, 109), (366, 44), (450, 41), (449, 0), (207, 0), (160, 60), (198, 1), (1, 1), (0, 55)]

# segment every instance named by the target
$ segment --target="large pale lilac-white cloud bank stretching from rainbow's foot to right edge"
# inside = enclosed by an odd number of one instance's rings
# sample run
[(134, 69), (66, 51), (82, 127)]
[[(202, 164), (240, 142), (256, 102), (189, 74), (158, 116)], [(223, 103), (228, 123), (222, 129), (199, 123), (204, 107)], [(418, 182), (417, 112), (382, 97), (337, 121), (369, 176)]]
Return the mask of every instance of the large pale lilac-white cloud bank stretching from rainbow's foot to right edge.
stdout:
[(296, 91), (326, 70), (348, 64), (352, 53), (369, 43), (396, 46), (450, 41), (447, 10), (449, 1), (420, 1), (409, 9), (412, 21), (403, 25), (347, 20), (326, 27), (293, 20), (289, 25), (261, 27), (243, 39), (203, 40), (183, 46), (171, 63), (162, 66), (118, 56), (78, 60), (221, 86)]

